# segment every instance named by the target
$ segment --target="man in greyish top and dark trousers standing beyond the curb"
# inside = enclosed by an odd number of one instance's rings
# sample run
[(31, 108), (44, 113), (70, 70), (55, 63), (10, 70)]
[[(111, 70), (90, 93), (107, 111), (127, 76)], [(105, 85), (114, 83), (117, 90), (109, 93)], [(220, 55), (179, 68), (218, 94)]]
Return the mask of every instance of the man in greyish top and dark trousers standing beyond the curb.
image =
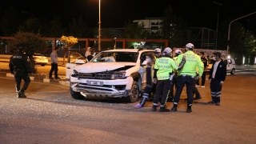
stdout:
[(58, 79), (58, 47), (55, 47), (54, 51), (50, 54), (50, 73), (49, 78), (52, 79), (52, 74), (54, 72), (54, 78)]

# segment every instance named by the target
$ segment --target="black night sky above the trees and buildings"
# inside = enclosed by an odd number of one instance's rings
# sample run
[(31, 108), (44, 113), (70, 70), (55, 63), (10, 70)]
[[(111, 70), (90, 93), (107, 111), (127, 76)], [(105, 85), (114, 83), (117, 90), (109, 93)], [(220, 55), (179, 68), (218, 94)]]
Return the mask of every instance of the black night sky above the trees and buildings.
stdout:
[[(227, 18), (240, 18), (254, 13), (254, 0), (216, 0), (219, 7), (219, 25)], [(163, 17), (164, 10), (173, 6), (174, 14), (181, 16), (190, 27), (206, 27), (216, 30), (218, 6), (214, 0), (101, 0), (102, 28), (123, 27), (124, 22), (148, 17)], [(38, 18), (53, 18), (71, 23), (80, 16), (91, 27), (98, 26), (98, 0), (4, 0), (0, 12), (15, 6), (18, 10), (34, 14)], [(256, 14), (238, 20), (246, 29), (256, 32)]]

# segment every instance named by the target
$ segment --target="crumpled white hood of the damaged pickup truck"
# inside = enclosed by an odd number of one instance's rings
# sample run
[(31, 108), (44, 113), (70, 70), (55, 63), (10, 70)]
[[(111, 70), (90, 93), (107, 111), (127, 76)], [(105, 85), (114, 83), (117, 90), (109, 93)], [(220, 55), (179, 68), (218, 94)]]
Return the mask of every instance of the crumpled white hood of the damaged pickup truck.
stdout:
[(111, 70), (127, 70), (135, 66), (134, 62), (89, 62), (84, 65), (75, 66), (74, 70), (78, 73), (96, 73)]

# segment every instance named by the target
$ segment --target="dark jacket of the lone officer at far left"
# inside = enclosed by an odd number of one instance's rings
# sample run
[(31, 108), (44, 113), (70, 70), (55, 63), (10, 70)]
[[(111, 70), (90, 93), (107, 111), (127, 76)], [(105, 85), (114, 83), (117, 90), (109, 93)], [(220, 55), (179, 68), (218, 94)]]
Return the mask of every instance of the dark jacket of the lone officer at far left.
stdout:
[(26, 54), (14, 54), (10, 57), (9, 69), (11, 73), (14, 71), (31, 73), (30, 58)]

